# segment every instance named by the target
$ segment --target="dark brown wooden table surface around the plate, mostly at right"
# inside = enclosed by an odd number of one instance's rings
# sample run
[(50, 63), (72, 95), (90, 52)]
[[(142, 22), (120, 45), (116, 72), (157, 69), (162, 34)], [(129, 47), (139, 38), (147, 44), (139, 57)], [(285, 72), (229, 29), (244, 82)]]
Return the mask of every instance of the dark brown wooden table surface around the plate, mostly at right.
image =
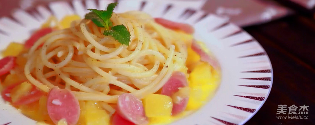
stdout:
[[(18, 0), (0, 0), (0, 16), (9, 15)], [(307, 10), (288, 0), (276, 0), (294, 13), (266, 24), (243, 28), (266, 50), (273, 68), (271, 93), (245, 125), (315, 125), (315, 20)], [(308, 119), (277, 119), (278, 105), (309, 106)]]

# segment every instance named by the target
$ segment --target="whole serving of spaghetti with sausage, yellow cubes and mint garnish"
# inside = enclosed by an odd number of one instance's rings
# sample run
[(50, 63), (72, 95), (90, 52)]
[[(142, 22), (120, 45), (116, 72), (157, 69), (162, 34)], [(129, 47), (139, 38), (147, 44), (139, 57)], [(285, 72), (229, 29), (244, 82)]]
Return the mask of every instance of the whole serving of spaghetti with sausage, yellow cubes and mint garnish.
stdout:
[(130, 11), (50, 17), (0, 60), (1, 95), (49, 125), (168, 124), (209, 101), (219, 66), (192, 26)]

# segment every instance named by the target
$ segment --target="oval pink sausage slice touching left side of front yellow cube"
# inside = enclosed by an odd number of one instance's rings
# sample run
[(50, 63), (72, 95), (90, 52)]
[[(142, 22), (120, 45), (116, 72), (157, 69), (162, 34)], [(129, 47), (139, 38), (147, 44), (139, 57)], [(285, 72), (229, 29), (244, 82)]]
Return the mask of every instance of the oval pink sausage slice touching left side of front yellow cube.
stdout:
[(142, 102), (132, 94), (125, 93), (118, 97), (117, 111), (124, 119), (137, 125), (148, 124)]

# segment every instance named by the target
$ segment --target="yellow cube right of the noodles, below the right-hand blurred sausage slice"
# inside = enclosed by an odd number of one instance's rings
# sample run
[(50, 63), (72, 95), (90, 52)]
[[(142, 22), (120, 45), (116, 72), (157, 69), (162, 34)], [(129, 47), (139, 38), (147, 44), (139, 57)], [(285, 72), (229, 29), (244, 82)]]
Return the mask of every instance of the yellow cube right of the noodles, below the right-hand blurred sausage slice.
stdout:
[(196, 66), (189, 75), (189, 87), (206, 84), (213, 84), (211, 81), (211, 66), (208, 63), (201, 63)]

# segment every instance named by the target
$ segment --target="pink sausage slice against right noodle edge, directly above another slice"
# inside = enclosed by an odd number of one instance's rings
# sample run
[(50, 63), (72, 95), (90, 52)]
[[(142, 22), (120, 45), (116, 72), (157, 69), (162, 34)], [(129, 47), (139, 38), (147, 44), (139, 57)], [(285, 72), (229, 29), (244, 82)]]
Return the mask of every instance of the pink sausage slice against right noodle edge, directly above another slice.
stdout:
[(169, 80), (162, 87), (161, 94), (171, 96), (179, 90), (178, 88), (186, 87), (187, 85), (188, 83), (185, 74), (175, 71), (171, 78), (169, 78)]

